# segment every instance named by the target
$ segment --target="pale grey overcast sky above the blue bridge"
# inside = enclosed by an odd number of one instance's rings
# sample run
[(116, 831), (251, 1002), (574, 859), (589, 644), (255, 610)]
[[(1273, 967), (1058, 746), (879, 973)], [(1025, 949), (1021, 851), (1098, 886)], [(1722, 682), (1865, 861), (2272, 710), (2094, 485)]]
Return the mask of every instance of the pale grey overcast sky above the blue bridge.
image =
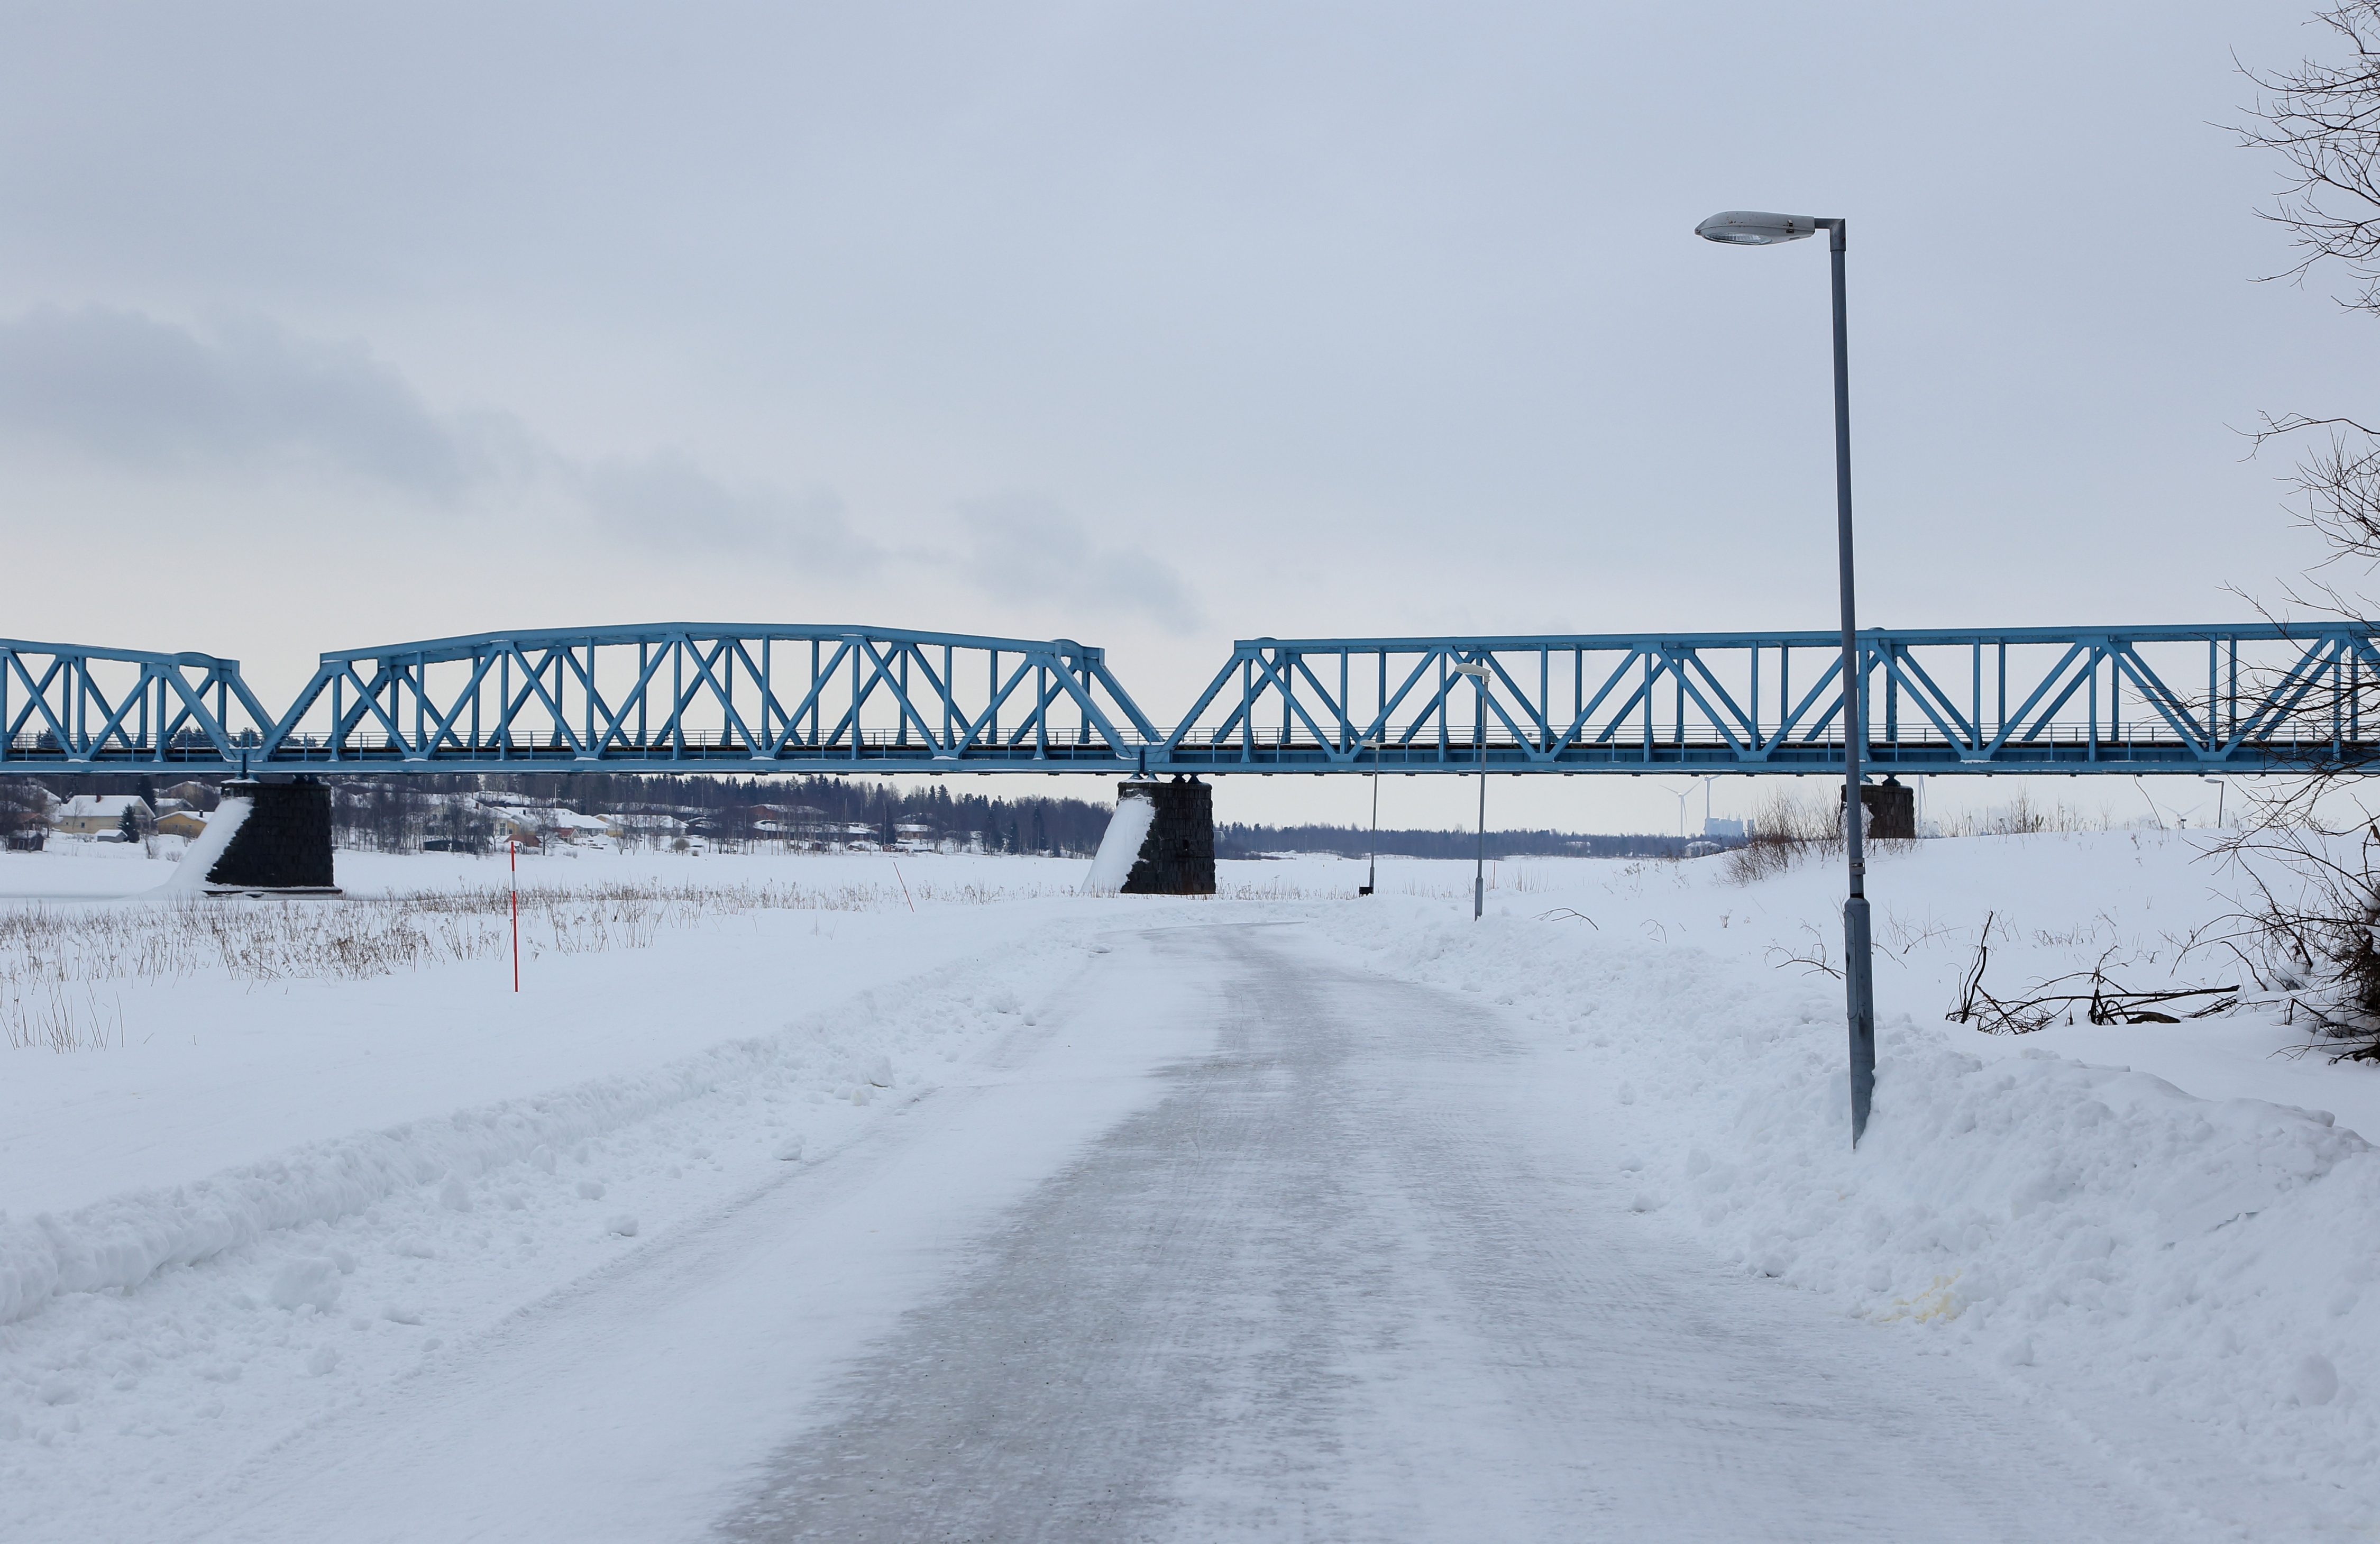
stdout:
[(1825, 628), (1825, 247), (1728, 207), (1852, 221), (1864, 623), (2242, 619), (2313, 550), (2235, 431), (2370, 412), (2221, 128), (2309, 10), (12, 2), (0, 635), (1069, 635), (1166, 721)]

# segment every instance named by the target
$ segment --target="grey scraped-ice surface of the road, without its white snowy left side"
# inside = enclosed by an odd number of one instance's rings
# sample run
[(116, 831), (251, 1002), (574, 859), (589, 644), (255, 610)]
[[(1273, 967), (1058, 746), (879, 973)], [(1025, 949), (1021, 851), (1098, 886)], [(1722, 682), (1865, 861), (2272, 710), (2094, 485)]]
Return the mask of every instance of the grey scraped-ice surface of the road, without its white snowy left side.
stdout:
[(1211, 1049), (838, 1380), (728, 1539), (2175, 1537), (1997, 1392), (1647, 1242), (1492, 1016), (1283, 928), (1133, 942)]

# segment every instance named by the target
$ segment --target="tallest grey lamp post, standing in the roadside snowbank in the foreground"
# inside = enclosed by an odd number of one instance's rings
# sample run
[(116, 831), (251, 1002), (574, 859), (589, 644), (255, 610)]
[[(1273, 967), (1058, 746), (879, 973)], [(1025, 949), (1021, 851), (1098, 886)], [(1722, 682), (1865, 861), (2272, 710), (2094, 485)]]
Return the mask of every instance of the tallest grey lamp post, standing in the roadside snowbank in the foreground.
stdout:
[(1859, 802), (1859, 757), (1868, 745), (1866, 690), (1859, 676), (1859, 621), (1852, 609), (1852, 362), (1842, 319), (1842, 219), (1809, 214), (1761, 214), (1728, 209), (1695, 226), (1695, 236), (1733, 247), (1768, 247), (1828, 233), (1835, 269), (1835, 545), (1842, 588), (1842, 849), (1849, 861), (1852, 892), (1842, 902), (1842, 985), (1852, 1021), (1852, 1147), (1868, 1130), (1868, 1099), (1875, 1094), (1875, 980), (1868, 954), (1868, 859), (1864, 852), (1866, 809)]

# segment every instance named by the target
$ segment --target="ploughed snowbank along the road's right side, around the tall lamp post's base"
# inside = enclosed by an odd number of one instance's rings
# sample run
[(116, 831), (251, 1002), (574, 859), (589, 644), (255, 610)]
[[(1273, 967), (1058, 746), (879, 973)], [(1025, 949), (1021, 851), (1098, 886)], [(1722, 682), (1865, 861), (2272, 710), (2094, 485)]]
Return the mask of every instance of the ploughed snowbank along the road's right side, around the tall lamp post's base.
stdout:
[(1640, 1225), (2018, 1382), (2228, 1432), (2275, 1470), (2370, 1463), (2380, 1151), (2328, 1111), (2040, 1047), (1978, 1056), (1899, 1013), (1852, 1151), (1840, 987), (1561, 923), (1333, 923), (1385, 971), (1492, 985), (1547, 1025), (1595, 1140), (1628, 1154)]

